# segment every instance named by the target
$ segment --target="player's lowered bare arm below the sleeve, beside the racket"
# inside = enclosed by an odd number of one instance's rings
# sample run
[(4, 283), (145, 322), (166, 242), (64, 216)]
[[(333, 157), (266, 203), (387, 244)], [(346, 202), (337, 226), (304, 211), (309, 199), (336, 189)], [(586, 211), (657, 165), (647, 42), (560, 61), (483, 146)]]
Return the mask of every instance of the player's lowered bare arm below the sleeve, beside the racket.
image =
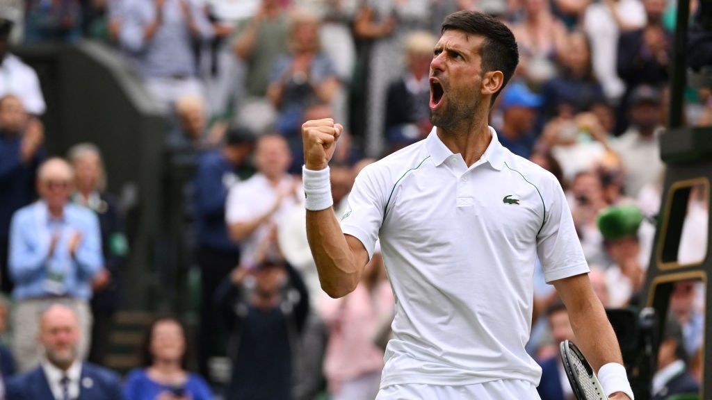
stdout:
[[(553, 284), (566, 305), (571, 327), (576, 335), (576, 343), (581, 347), (593, 369), (600, 372), (601, 367), (609, 363), (622, 366), (623, 357), (618, 339), (601, 301), (593, 291), (588, 274), (555, 280)], [(599, 377), (602, 378), (600, 374)], [(604, 389), (610, 386), (604, 382), (604, 379), (602, 384)], [(627, 400), (629, 397), (622, 391), (614, 391), (609, 395), (609, 399)]]

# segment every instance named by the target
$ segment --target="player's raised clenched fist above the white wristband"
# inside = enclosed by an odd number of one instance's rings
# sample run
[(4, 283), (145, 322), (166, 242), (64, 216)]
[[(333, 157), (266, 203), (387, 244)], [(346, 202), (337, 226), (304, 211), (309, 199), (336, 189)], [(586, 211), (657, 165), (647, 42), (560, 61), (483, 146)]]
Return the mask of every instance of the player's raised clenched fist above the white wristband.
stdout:
[(304, 164), (307, 169), (318, 171), (325, 169), (336, 149), (344, 127), (335, 124), (332, 118), (304, 122), (302, 141), (304, 142)]

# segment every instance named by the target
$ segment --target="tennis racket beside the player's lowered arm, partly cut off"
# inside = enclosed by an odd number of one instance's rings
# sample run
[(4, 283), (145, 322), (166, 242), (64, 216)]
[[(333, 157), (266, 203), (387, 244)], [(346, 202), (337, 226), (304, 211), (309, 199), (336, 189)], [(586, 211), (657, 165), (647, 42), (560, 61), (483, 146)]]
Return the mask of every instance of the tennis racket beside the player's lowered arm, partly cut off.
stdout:
[(606, 400), (601, 383), (593, 373), (591, 364), (583, 357), (576, 344), (564, 340), (559, 344), (561, 362), (564, 364), (566, 377), (577, 400)]

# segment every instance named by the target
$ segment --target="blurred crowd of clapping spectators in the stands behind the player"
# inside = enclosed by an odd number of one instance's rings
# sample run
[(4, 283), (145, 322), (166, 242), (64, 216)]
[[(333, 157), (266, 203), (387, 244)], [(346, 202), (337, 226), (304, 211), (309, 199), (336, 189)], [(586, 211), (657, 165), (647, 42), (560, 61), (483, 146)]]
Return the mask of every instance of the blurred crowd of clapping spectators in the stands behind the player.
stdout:
[[(300, 126), (333, 117), (346, 127), (331, 166), (342, 215), (360, 169), (431, 132), (429, 63), (441, 20), (459, 9), (497, 16), (518, 41), (520, 66), (491, 112), (498, 140), (559, 179), (604, 305), (643, 305), (663, 202), (657, 138), (675, 1), (6, 0), (0, 399), (373, 399), (393, 295), (378, 252), (355, 292), (335, 300), (320, 289)], [(97, 146), (48, 154), (42, 120), (52, 105), (11, 53), (83, 39), (120, 54), (167, 110), (167, 147), (196, 155), (186, 186), (201, 276), (197, 362), (181, 319), (160, 317), (142, 364), (122, 380), (99, 366), (130, 293), (124, 210), (106, 192)], [(712, 92), (687, 90), (684, 115), (709, 125)], [(708, 190), (691, 190), (679, 263), (706, 255)], [(573, 339), (566, 310), (540, 268), (534, 282), (528, 349), (543, 367), (540, 394), (571, 399), (556, 356)], [(698, 280), (674, 285), (655, 399), (701, 382), (703, 292)], [(53, 397), (38, 391), (43, 379)]]

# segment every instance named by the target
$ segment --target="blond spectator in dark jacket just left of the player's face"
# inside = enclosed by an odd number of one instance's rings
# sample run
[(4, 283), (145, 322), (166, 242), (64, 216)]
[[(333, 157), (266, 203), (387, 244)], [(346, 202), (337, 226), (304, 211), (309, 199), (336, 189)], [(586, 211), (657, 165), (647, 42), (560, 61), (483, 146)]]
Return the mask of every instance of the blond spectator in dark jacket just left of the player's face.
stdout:
[(430, 62), (437, 38), (430, 33), (411, 33), (405, 42), (407, 70), (393, 80), (386, 95), (386, 141), (391, 153), (424, 139), (430, 123)]

